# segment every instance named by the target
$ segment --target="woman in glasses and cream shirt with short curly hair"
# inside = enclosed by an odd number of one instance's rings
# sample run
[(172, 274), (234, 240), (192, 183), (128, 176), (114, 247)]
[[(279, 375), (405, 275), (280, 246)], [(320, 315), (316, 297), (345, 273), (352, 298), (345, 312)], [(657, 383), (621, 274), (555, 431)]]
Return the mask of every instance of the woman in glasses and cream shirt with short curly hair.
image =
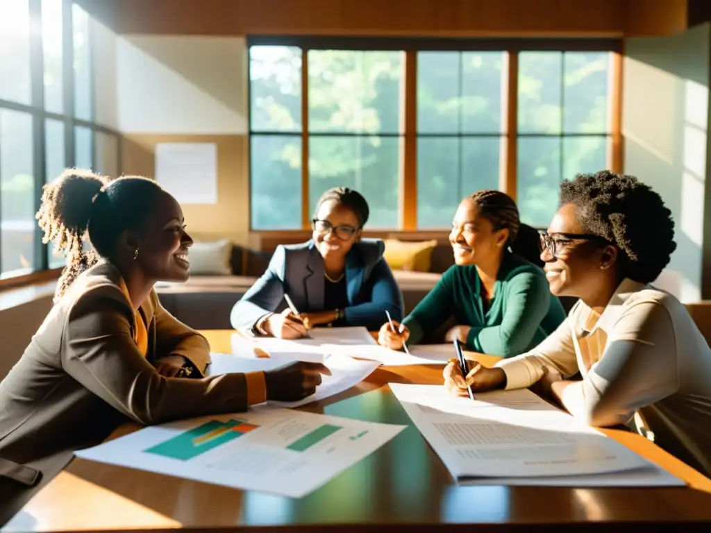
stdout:
[[(629, 424), (711, 474), (711, 350), (677, 298), (651, 286), (674, 252), (663, 200), (634, 176), (576, 176), (542, 235), (553, 294), (580, 298), (565, 323), (495, 368), (444, 370), (454, 394), (536, 387), (593, 426)], [(570, 380), (580, 372), (582, 379)]]

